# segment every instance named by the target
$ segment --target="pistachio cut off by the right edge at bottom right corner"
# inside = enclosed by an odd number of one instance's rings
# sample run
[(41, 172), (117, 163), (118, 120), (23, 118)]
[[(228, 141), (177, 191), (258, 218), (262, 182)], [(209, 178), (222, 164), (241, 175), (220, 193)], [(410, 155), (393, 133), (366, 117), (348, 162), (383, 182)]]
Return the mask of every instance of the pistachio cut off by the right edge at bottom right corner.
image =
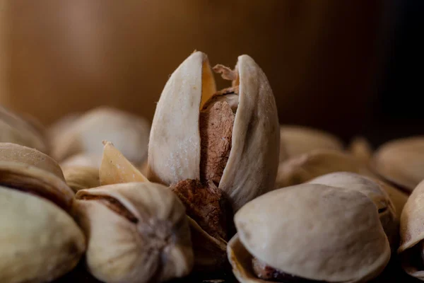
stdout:
[(401, 255), (404, 270), (424, 281), (424, 181), (409, 196), (401, 215)]

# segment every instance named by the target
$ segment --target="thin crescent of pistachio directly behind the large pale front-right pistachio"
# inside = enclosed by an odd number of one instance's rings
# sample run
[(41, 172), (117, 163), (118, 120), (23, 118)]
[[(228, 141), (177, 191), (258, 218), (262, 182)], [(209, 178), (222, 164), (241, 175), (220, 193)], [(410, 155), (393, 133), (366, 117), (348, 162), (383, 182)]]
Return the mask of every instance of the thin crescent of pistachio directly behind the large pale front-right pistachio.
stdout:
[(347, 190), (362, 192), (374, 202), (384, 232), (389, 238), (392, 250), (396, 250), (399, 244), (399, 219), (396, 209), (384, 187), (374, 180), (356, 173), (337, 172), (319, 176), (310, 180), (310, 184), (329, 185), (331, 187), (343, 187)]

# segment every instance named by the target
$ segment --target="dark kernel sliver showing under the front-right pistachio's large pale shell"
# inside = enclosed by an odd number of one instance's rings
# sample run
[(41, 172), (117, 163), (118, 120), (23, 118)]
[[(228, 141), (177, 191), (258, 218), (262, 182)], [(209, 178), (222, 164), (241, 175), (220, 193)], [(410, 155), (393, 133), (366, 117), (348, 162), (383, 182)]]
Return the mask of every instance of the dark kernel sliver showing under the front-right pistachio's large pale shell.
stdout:
[(257, 258), (252, 258), (252, 269), (258, 278), (269, 281), (284, 283), (327, 283), (326, 281), (317, 281), (290, 275), (281, 270), (276, 270), (275, 268), (266, 265), (265, 262), (261, 262), (261, 260)]

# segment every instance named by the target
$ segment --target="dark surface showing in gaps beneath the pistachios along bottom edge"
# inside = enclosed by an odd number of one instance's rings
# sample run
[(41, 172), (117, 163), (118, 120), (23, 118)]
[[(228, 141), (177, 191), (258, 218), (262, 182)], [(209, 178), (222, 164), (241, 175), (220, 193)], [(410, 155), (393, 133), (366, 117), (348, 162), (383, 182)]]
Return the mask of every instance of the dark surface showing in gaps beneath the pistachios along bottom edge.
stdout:
[[(76, 270), (73, 270), (68, 275), (54, 283), (98, 283), (99, 281), (91, 277), (88, 272), (84, 270), (83, 263), (81, 263)], [(236, 283), (237, 280), (232, 276), (231, 272), (216, 272), (213, 274), (192, 274), (189, 277), (182, 279), (175, 279), (170, 283), (186, 283), (186, 282), (199, 282), (199, 283)], [(406, 275), (397, 262), (397, 258), (392, 258), (386, 269), (376, 279), (370, 283), (419, 283), (422, 282), (413, 277)]]

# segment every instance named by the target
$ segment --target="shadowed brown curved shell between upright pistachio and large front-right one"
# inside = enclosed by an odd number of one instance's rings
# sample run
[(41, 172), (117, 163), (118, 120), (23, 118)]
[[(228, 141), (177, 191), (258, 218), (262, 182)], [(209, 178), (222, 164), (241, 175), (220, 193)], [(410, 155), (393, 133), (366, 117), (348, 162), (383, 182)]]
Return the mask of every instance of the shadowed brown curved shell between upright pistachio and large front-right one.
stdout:
[(298, 185), (320, 175), (338, 171), (372, 175), (367, 165), (351, 154), (329, 149), (315, 149), (280, 163), (276, 187)]

